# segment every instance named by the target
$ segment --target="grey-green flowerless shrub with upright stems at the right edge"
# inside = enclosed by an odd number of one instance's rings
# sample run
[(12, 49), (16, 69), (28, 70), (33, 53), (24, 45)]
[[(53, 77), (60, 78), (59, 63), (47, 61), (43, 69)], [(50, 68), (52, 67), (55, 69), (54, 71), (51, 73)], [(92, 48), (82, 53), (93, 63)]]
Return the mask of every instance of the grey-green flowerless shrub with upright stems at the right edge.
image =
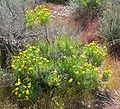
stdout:
[(103, 11), (103, 18), (100, 22), (100, 37), (104, 38), (108, 45), (120, 42), (120, 8), (113, 7)]

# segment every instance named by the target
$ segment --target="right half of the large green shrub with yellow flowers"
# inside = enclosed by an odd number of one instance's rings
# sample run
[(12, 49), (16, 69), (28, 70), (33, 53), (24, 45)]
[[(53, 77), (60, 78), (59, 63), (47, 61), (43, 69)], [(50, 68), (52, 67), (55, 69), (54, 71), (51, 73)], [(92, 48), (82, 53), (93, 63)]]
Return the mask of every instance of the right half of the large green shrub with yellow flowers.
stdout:
[(83, 46), (68, 34), (55, 40), (54, 46), (59, 51), (57, 69), (66, 80), (66, 84), (88, 91), (94, 89), (102, 80), (99, 78), (98, 67), (102, 65), (107, 49), (97, 43), (93, 41)]

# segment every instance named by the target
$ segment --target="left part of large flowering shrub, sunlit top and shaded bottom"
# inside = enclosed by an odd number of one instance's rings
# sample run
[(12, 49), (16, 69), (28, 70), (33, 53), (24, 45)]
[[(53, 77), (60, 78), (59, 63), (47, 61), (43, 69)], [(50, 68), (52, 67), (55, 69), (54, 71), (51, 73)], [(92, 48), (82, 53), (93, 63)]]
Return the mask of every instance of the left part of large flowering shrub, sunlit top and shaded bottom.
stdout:
[(47, 72), (49, 69), (48, 63), (47, 58), (40, 56), (38, 47), (26, 45), (26, 50), (20, 50), (19, 54), (12, 58), (11, 67), (17, 81), (15, 83), (17, 90), (13, 92), (26, 99), (32, 97), (37, 90), (40, 90), (36, 82), (40, 81), (39, 76), (41, 78), (44, 76), (43, 71)]

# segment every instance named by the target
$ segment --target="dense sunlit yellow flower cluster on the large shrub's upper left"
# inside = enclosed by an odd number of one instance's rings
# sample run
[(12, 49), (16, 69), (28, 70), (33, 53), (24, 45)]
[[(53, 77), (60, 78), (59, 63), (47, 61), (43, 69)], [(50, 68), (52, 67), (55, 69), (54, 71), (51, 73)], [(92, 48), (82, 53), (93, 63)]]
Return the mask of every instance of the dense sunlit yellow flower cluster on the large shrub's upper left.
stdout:
[(40, 49), (28, 44), (25, 51), (20, 50), (18, 56), (13, 56), (11, 66), (18, 72), (33, 71), (38, 65), (45, 66), (49, 63), (47, 58), (39, 56)]

